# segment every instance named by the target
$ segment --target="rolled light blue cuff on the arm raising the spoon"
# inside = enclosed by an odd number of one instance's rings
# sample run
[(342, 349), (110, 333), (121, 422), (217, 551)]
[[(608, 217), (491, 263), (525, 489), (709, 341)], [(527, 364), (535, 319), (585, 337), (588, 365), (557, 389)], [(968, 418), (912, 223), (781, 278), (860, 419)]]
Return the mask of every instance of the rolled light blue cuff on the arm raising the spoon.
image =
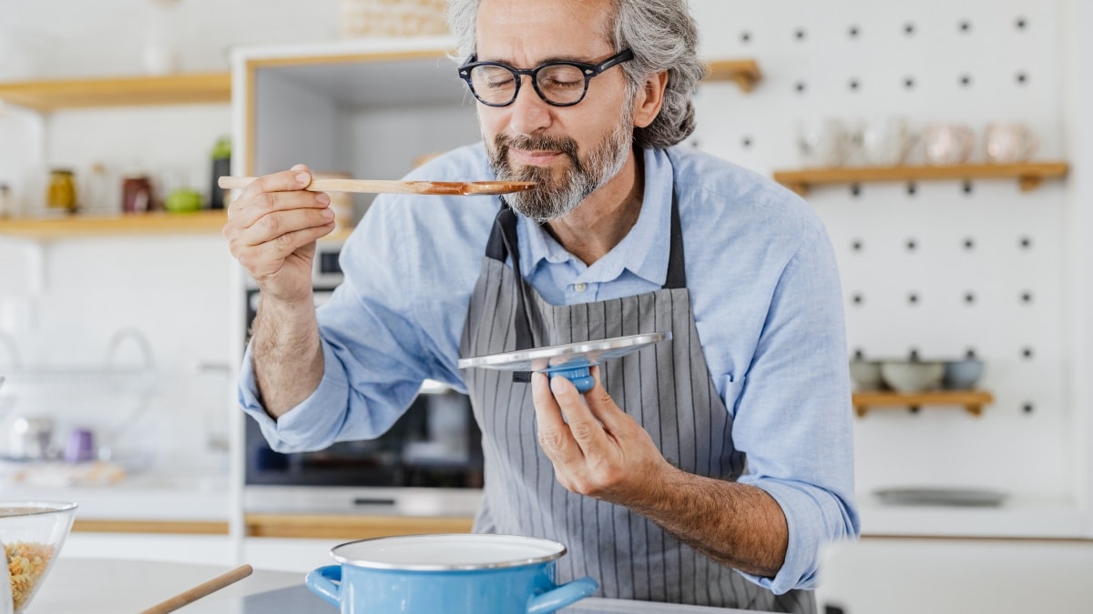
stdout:
[(349, 381), (345, 369), (334, 368), (341, 362), (325, 341), (322, 359), (325, 367), (319, 386), (298, 405), (274, 420), (266, 413), (266, 408), (258, 399), (250, 346), (247, 346), (239, 373), (239, 405), (258, 423), (274, 451), (287, 453), (321, 450), (334, 442), (345, 417)]

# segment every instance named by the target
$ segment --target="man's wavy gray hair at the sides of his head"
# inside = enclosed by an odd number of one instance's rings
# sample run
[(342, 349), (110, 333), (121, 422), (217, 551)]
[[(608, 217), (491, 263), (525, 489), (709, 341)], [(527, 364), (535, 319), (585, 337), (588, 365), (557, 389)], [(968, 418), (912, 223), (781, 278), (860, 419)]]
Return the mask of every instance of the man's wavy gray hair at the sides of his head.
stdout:
[[(448, 0), (448, 25), (463, 61), (475, 50), (475, 24), (481, 0)], [(631, 49), (634, 59), (620, 64), (628, 93), (636, 94), (650, 74), (668, 71), (665, 101), (653, 123), (634, 129), (634, 144), (669, 147), (694, 131), (694, 90), (706, 75), (698, 59), (698, 26), (687, 0), (612, 0), (613, 32), (604, 33), (615, 51)]]

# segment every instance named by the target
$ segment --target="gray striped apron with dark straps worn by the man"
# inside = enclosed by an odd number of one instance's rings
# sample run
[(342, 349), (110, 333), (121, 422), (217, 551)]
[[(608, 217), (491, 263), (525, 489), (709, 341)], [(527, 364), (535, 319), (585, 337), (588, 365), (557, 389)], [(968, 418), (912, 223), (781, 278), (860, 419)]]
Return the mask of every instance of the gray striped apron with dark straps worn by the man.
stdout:
[[(512, 267), (506, 265), (507, 258)], [(603, 386), (672, 464), (720, 480), (740, 476), (744, 454), (732, 445), (732, 418), (709, 377), (691, 311), (674, 198), (668, 279), (659, 291), (553, 306), (519, 271), (516, 215), (503, 206), (471, 296), (460, 356), (671, 330), (670, 342), (600, 365)], [(566, 544), (557, 580), (591, 576), (602, 587), (601, 597), (815, 612), (811, 591), (775, 595), (680, 543), (645, 517), (559, 485), (536, 438), (529, 375), (463, 371), (485, 457), (483, 504), (474, 531)]]

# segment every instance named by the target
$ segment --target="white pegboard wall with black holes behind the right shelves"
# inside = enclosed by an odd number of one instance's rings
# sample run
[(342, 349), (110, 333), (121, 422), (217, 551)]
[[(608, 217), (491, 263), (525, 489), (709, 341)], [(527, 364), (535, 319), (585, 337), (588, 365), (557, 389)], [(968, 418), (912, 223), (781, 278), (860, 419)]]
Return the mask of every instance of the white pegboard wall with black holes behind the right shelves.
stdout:
[[(800, 121), (962, 122), (983, 162), (990, 121), (1026, 122), (1037, 160), (1062, 160), (1061, 3), (1033, 0), (693, 0), (702, 51), (753, 58), (750, 94), (706, 84), (691, 144), (769, 175), (802, 161)], [(860, 158), (849, 164), (860, 163)], [(920, 164), (920, 147), (909, 163)], [(839, 263), (847, 344), (866, 357), (986, 362), (980, 417), (878, 409), (857, 420), (859, 493), (895, 485), (1000, 488), (1073, 500), (1073, 374), (1066, 338), (1066, 186), (1015, 180), (813, 189)]]

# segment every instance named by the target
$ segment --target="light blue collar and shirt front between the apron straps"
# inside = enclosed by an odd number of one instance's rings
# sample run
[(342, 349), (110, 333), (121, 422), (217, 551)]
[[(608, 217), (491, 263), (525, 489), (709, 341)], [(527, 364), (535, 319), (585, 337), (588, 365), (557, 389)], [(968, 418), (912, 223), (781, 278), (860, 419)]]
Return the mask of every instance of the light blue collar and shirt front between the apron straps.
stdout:
[(585, 269), (583, 262), (565, 250), (545, 228), (531, 220), (518, 217), (520, 273), (530, 276), (544, 261), (557, 264), (573, 260), (584, 272), (584, 282), (610, 282), (624, 270), (662, 285), (668, 276), (670, 249), (672, 167), (663, 150), (644, 150), (645, 191), (642, 212), (630, 233), (610, 252)]

